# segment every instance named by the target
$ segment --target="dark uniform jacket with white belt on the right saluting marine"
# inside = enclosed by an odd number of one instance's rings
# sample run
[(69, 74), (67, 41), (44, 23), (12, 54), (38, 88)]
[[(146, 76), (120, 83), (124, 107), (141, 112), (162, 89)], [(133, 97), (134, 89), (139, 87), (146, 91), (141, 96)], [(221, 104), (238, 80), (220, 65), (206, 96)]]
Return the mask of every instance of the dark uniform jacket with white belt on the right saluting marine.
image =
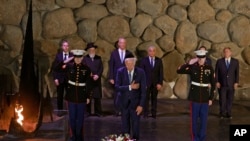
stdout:
[[(188, 95), (190, 101), (206, 103), (208, 100), (214, 99), (215, 78), (212, 66), (207, 64), (199, 65), (198, 63), (184, 64), (177, 70), (177, 73), (190, 75), (191, 86)], [(210, 87), (206, 86), (207, 84)]]

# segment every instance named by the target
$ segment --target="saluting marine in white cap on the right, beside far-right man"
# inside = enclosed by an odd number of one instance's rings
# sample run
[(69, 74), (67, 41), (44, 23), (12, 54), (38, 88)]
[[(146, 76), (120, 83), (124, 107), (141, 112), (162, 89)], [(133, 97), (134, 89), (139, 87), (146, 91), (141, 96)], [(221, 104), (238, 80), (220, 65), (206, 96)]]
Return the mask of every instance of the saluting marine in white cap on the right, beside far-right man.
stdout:
[(208, 107), (212, 105), (214, 99), (214, 70), (212, 66), (205, 64), (206, 52), (195, 51), (198, 60), (191, 59), (188, 64), (182, 65), (177, 70), (179, 74), (189, 74), (191, 79), (188, 100), (190, 100), (192, 141), (206, 140)]

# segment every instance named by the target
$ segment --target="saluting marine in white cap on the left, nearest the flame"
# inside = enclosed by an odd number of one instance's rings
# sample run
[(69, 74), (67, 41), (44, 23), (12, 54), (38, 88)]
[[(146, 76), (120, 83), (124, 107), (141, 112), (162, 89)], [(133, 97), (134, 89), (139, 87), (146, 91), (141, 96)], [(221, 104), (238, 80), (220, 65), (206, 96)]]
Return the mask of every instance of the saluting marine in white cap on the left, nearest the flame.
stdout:
[[(74, 57), (64, 61), (60, 67), (68, 76), (68, 88), (65, 96), (69, 110), (69, 124), (72, 141), (83, 141), (83, 121), (86, 104), (90, 101), (90, 68), (82, 63), (84, 50), (72, 50)], [(73, 63), (69, 63), (74, 59)]]

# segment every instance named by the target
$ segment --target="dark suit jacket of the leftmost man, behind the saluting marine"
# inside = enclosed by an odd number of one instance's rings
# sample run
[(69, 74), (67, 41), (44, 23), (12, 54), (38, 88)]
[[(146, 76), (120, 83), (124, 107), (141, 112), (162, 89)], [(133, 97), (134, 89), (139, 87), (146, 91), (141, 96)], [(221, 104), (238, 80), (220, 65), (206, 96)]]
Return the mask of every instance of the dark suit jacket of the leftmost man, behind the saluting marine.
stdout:
[[(69, 52), (69, 56), (68, 57), (72, 57), (73, 54), (71, 52)], [(58, 69), (58, 66), (60, 66), (60, 64), (63, 63), (63, 52), (59, 52), (56, 54), (55, 60), (53, 62), (52, 65), (52, 74), (53, 74), (53, 78), (58, 79), (59, 83), (63, 83), (67, 81), (67, 72), (65, 69)], [(56, 69), (57, 68), (57, 69)]]

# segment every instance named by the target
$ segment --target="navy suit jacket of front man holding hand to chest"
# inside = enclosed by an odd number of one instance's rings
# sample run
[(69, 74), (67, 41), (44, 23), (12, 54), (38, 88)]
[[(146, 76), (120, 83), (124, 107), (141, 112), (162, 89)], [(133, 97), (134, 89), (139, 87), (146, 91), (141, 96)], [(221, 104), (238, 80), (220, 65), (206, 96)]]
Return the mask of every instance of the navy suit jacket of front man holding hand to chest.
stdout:
[(146, 77), (145, 72), (139, 68), (135, 67), (133, 74), (133, 81), (135, 83), (140, 83), (140, 87), (137, 90), (129, 90), (129, 76), (126, 67), (118, 69), (116, 76), (115, 88), (120, 92), (120, 106), (122, 108), (127, 108), (129, 102), (132, 104), (132, 108), (137, 106), (144, 107), (146, 98)]

